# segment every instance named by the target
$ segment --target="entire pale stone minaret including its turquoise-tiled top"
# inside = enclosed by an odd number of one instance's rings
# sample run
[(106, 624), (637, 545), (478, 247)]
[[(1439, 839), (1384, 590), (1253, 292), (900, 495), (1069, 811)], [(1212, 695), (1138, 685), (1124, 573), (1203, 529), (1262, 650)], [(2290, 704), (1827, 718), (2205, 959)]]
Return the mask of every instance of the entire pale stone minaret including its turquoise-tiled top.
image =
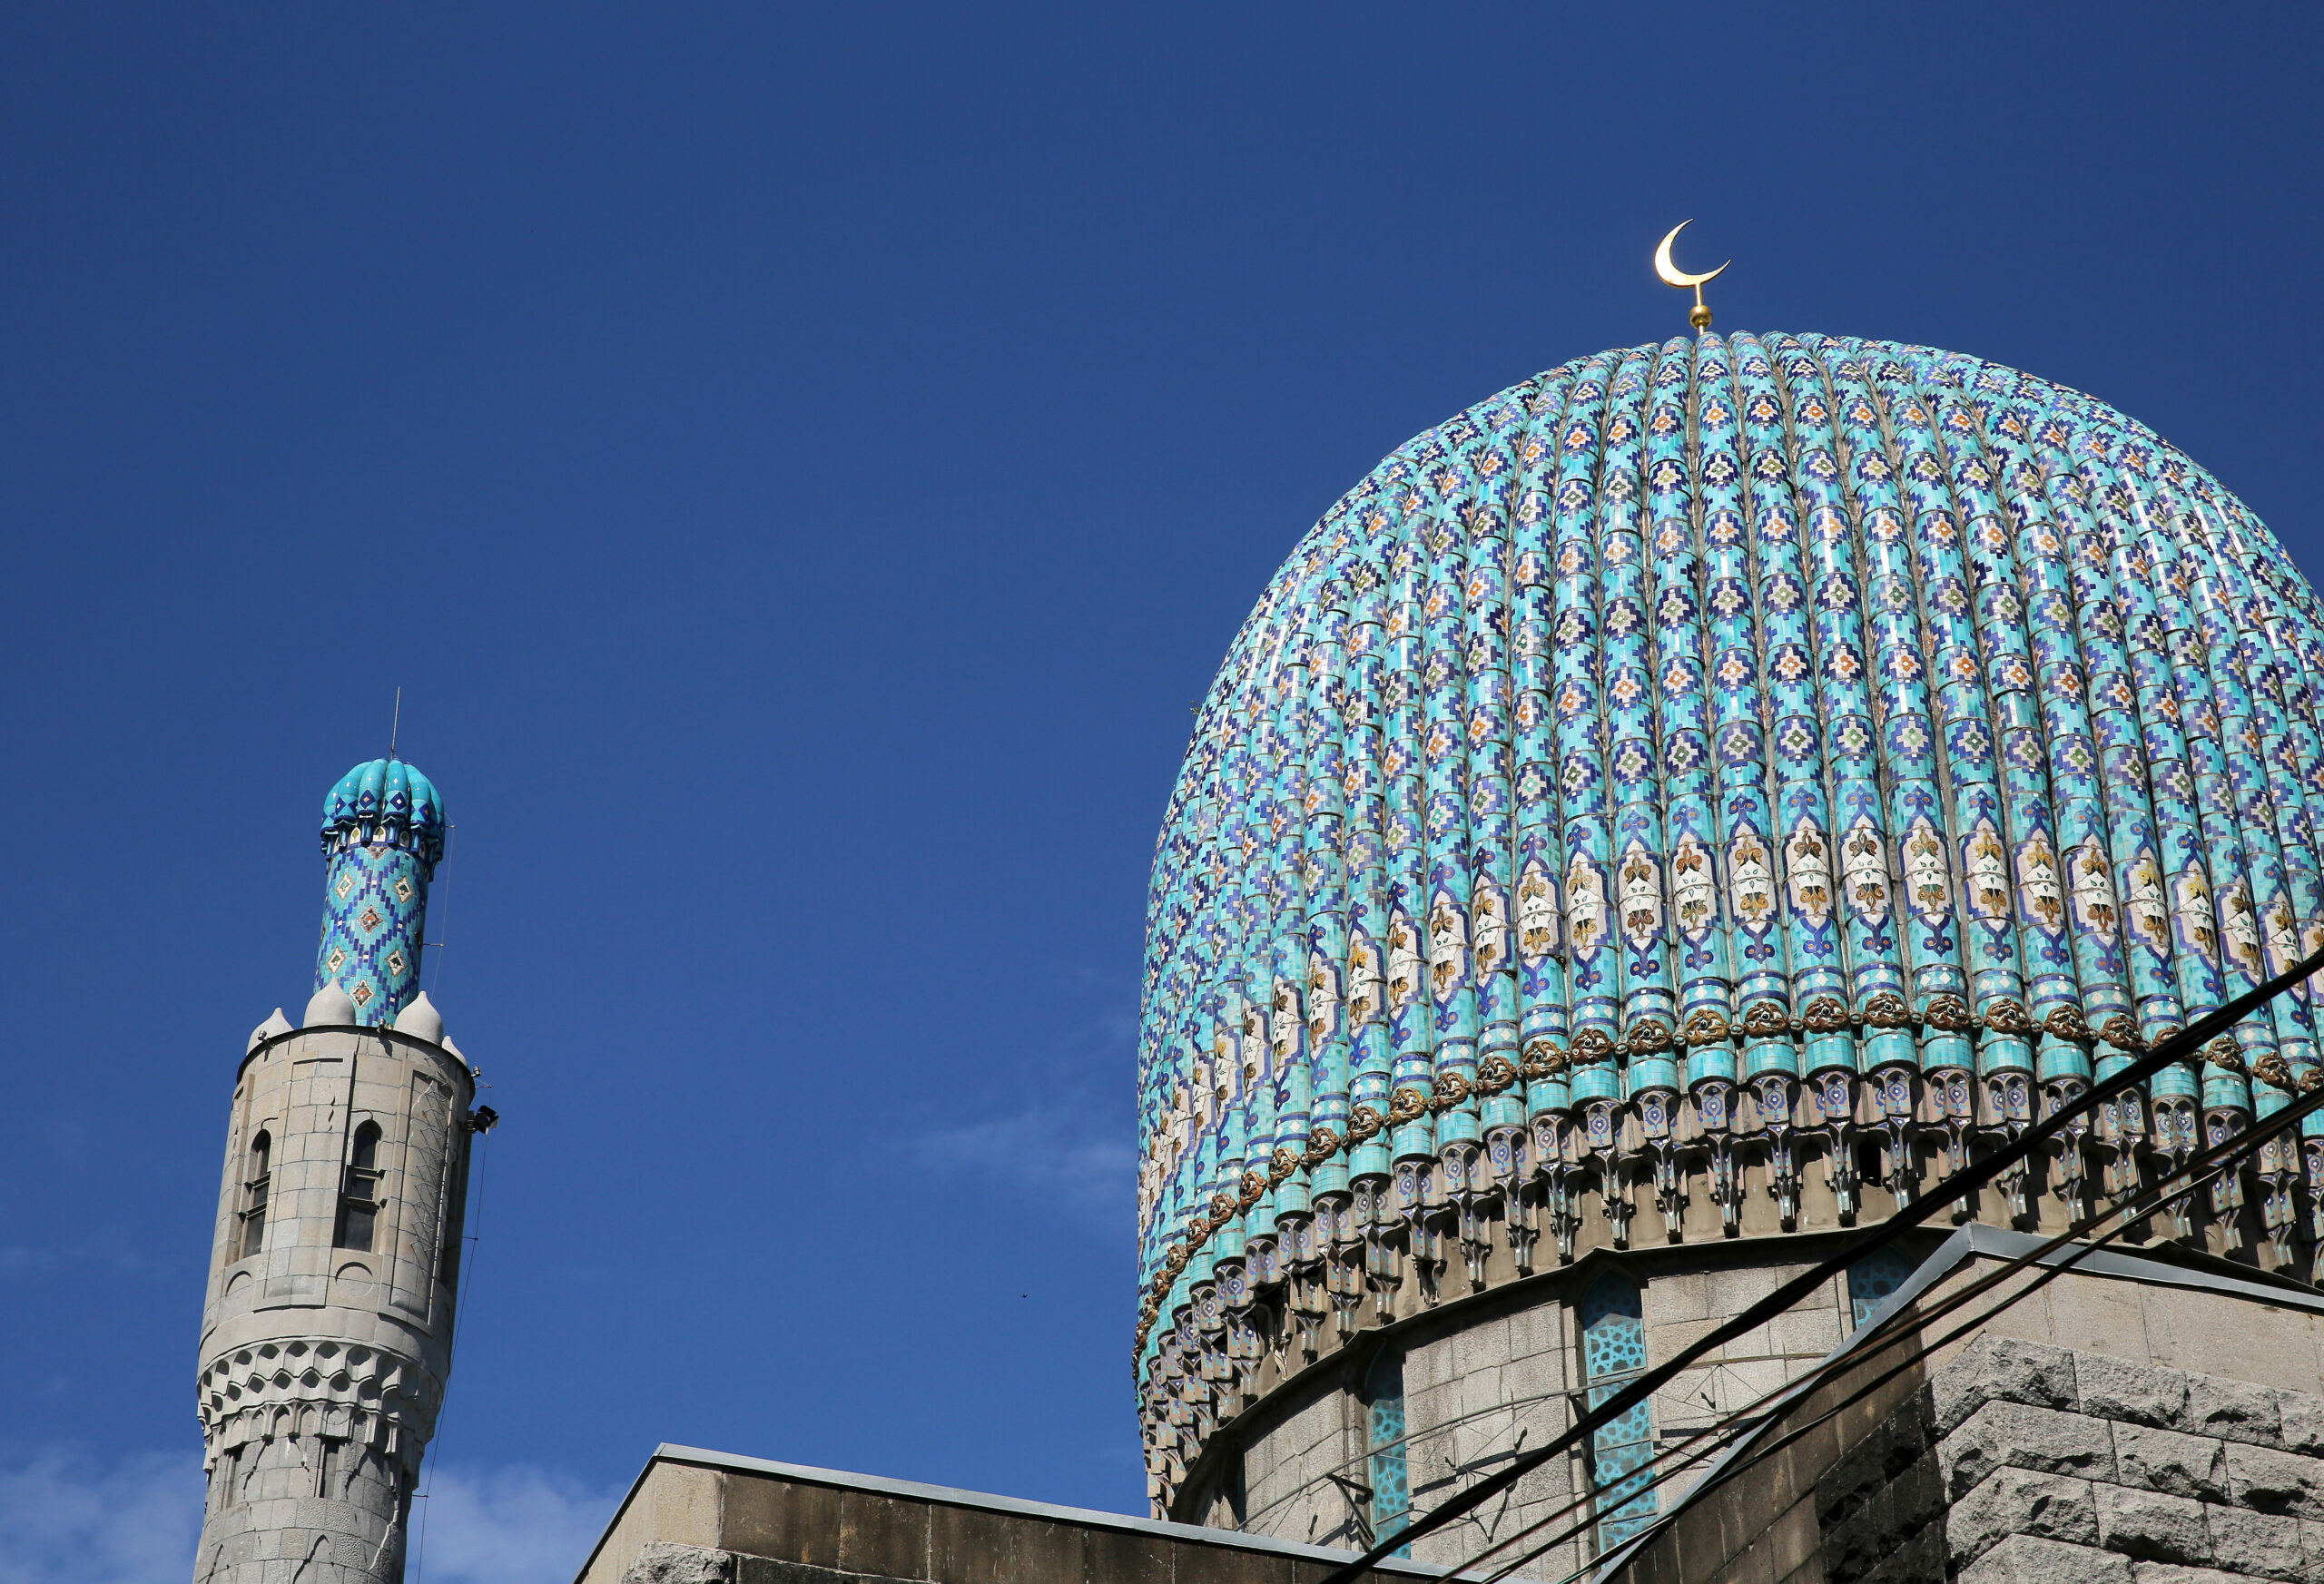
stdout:
[(474, 1073), (418, 992), (444, 806), (409, 764), (346, 773), (316, 989), (249, 1043), (202, 1308), (209, 1503), (195, 1584), (395, 1584), (451, 1375)]

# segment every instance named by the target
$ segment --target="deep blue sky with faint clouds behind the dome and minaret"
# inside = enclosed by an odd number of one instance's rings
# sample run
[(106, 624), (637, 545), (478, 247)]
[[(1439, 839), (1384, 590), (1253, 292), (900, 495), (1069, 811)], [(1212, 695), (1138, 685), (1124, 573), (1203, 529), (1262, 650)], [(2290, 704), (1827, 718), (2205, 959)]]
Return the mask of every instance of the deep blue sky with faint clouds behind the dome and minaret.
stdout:
[(1694, 216), (1722, 327), (2092, 390), (2324, 569), (2315, 16), (0, 12), (0, 1575), (191, 1565), (395, 687), (507, 1119), (416, 1577), (658, 1440), (1136, 1510), (1146, 869), (1301, 527), (1680, 332)]

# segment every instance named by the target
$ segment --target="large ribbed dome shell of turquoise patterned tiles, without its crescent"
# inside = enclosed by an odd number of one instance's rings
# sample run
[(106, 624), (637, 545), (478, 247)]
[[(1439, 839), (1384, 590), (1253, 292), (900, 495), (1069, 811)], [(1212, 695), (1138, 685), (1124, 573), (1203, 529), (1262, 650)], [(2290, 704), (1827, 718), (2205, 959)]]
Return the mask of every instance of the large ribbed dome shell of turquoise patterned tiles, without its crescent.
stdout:
[[(1420, 434), (1260, 597), (1162, 822), (1141, 1342), (1399, 1159), (1457, 1196), (1497, 1129), (1822, 1073), (1927, 1075), (1959, 1143), (2296, 962), (2319, 634), (2203, 469), (1957, 353), (1703, 334)], [(2315, 1061), (2287, 996), (2154, 1101)]]

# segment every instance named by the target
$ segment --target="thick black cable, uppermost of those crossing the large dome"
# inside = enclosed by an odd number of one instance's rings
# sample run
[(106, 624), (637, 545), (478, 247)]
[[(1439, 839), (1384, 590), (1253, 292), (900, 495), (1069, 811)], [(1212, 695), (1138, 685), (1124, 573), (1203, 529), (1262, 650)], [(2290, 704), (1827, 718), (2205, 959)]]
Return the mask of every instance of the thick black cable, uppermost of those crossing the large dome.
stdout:
[(1992, 1154), (1987, 1154), (1982, 1161), (1968, 1166), (1966, 1171), (1952, 1173), (1936, 1189), (1931, 1189), (1927, 1196), (1913, 1201), (1903, 1210), (1896, 1210), (1889, 1219), (1885, 1219), (1880, 1226), (1873, 1226), (1871, 1231), (1866, 1231), (1862, 1238), (1857, 1238), (1841, 1254), (1834, 1254), (1831, 1259), (1824, 1259), (1822, 1263), (1817, 1263), (1817, 1266), (1803, 1270), (1801, 1275), (1792, 1277), (1789, 1282), (1785, 1282), (1783, 1287), (1778, 1287), (1776, 1291), (1771, 1291), (1766, 1298), (1759, 1298), (1757, 1303), (1752, 1303), (1750, 1308), (1745, 1308), (1734, 1319), (1727, 1319), (1724, 1324), (1715, 1326), (1710, 1333), (1706, 1333), (1703, 1338), (1699, 1338), (1690, 1347), (1680, 1349), (1680, 1354), (1676, 1359), (1645, 1370), (1643, 1375), (1638, 1375), (1636, 1380), (1631, 1380), (1627, 1387), (1622, 1387), (1620, 1391), (1615, 1391), (1613, 1396), (1608, 1396), (1604, 1403), (1599, 1403), (1597, 1407), (1592, 1407), (1587, 1414), (1583, 1414), (1580, 1419), (1576, 1419), (1562, 1435), (1557, 1435), (1557, 1440), (1552, 1440), (1552, 1442), (1548, 1442), (1543, 1447), (1536, 1447), (1534, 1452), (1522, 1454), (1511, 1466), (1501, 1468), (1497, 1475), (1490, 1475), (1490, 1477), (1480, 1479), (1478, 1484), (1469, 1486), (1466, 1491), (1448, 1498), (1446, 1503), (1441, 1503), (1427, 1517), (1422, 1517), (1422, 1519), (1404, 1526), (1401, 1531), (1397, 1531), (1390, 1540), (1383, 1540), (1383, 1542), (1373, 1545), (1371, 1549), (1367, 1549), (1355, 1561), (1343, 1563), (1341, 1568), (1336, 1568), (1329, 1575), (1325, 1575), (1320, 1584), (1355, 1584), (1355, 1579), (1362, 1579), (1367, 1572), (1371, 1572), (1371, 1568), (1376, 1563), (1387, 1561), (1387, 1556), (1392, 1556), (1397, 1549), (1411, 1545), (1413, 1540), (1420, 1540), (1422, 1535), (1436, 1533), (1439, 1528), (1443, 1528), (1452, 1519), (1457, 1519), (1457, 1517), (1462, 1517), (1466, 1512), (1473, 1512), (1476, 1507), (1485, 1505), (1487, 1500), (1492, 1500), (1501, 1491), (1515, 1486), (1518, 1479), (1522, 1479), (1525, 1475), (1534, 1473), (1536, 1468), (1541, 1468), (1543, 1463), (1548, 1463), (1552, 1456), (1557, 1456), (1562, 1452), (1569, 1452), (1585, 1435), (1592, 1435), (1601, 1426), (1611, 1424), (1613, 1419), (1620, 1419), (1624, 1412), (1629, 1412), (1638, 1403), (1648, 1401), (1655, 1391), (1659, 1391), (1664, 1384), (1669, 1384), (1676, 1375), (1680, 1375), (1685, 1368), (1690, 1368), (1694, 1361), (1699, 1361), (1710, 1349), (1722, 1347), (1722, 1345), (1731, 1342), (1734, 1338), (1743, 1335), (1745, 1331), (1752, 1331), (1755, 1326), (1766, 1324), (1769, 1319), (1773, 1319), (1776, 1315), (1785, 1312), (1787, 1308), (1792, 1308), (1794, 1303), (1799, 1303), (1801, 1298), (1806, 1298), (1810, 1291), (1815, 1291), (1817, 1287), (1822, 1287), (1824, 1282), (1829, 1282), (1834, 1275), (1838, 1275), (1848, 1266), (1852, 1266), (1859, 1259), (1864, 1259), (1866, 1254), (1887, 1247), (1889, 1243), (1894, 1243), (1903, 1233), (1913, 1231), (1915, 1226), (1920, 1226), (1922, 1222), (1927, 1222), (1929, 1217), (1934, 1217), (1938, 1210), (1943, 1210), (1943, 1208), (1948, 1208), (1948, 1205), (1966, 1198), (1968, 1194), (1975, 1194), (1980, 1187), (1999, 1180), (2010, 1166), (2017, 1166), (2020, 1161), (2024, 1161), (2027, 1157), (2031, 1157), (2036, 1150), (2040, 1150), (2043, 1145), (2047, 1145), (2052, 1138), (2057, 1138), (2071, 1124), (2075, 1124), (2082, 1117), (2087, 1117), (2089, 1113), (2094, 1113), (2106, 1101), (2115, 1099), (2117, 1094), (2124, 1094), (2126, 1089), (2133, 1089), (2133, 1087), (2143, 1085), (2147, 1078), (2161, 1073), (2173, 1061), (2182, 1061), (2182, 1059), (2201, 1052), (2201, 1047), (2205, 1043), (2210, 1043), (2215, 1036), (2226, 1034), (2245, 1015), (2259, 1010), (2261, 1006), (2266, 1006), (2268, 1001), (2273, 1001), (2282, 992), (2294, 989), (2301, 980), (2305, 980), (2310, 973), (2315, 973), (2319, 969), (2324, 969), (2324, 950), (2319, 950), (2319, 952), (2315, 952), (2310, 957), (2303, 957), (2301, 962), (2296, 962), (2284, 973), (2278, 973), (2268, 982), (2264, 982), (2264, 985), (2259, 985), (2254, 989), (2247, 989), (2245, 994), (2236, 996), (2226, 1006), (2219, 1006), (2217, 1010), (2205, 1013), (2203, 1017), (2196, 1017), (2192, 1024), (2187, 1024), (2178, 1034), (2159, 1041), (2154, 1045), (2154, 1050), (2150, 1050), (2145, 1057), (2138, 1057), (2136, 1061), (2131, 1061), (2129, 1066), (2124, 1066), (2113, 1078), (2094, 1082), (2089, 1089), (2085, 1089), (2082, 1094), (2073, 1096), (2071, 1101), (2066, 1101), (2064, 1106), (2059, 1106), (2057, 1110), (2052, 1110), (2047, 1117), (2043, 1117), (2040, 1122), (2036, 1122), (2033, 1126), (2029, 1126), (2015, 1140), (2010, 1140), (2010, 1143), (2001, 1145), (1999, 1150), (1994, 1150)]

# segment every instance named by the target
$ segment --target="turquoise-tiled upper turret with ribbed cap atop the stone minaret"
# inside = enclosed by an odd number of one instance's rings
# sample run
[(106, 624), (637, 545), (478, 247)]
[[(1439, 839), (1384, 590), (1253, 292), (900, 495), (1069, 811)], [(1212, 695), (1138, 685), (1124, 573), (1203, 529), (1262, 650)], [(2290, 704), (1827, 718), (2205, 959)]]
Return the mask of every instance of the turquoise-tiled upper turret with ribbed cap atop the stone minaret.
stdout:
[(402, 759), (372, 759), (323, 801), (323, 941), (314, 987), (339, 982), (363, 1024), (390, 1024), (421, 987), (428, 883), (444, 857), (444, 799)]

